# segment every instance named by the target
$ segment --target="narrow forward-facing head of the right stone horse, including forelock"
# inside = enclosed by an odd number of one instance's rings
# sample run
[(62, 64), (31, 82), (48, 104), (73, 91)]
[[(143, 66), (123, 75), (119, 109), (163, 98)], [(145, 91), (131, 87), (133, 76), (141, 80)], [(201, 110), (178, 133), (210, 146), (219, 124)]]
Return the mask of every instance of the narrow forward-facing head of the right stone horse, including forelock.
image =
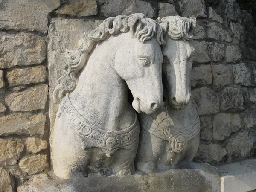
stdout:
[(162, 46), (163, 73), (169, 103), (174, 109), (184, 109), (190, 100), (190, 73), (195, 47), (192, 41), (196, 18), (169, 16), (157, 19), (166, 34)]

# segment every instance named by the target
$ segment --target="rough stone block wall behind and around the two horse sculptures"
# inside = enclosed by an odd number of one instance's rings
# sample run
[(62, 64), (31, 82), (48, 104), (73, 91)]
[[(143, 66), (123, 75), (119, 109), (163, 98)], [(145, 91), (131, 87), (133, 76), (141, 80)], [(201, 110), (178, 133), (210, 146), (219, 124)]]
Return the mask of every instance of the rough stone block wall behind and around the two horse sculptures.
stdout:
[(82, 29), (120, 14), (197, 17), (195, 160), (220, 165), (255, 156), (256, 27), (235, 0), (3, 0), (0, 7), (0, 191), (50, 170), (48, 71), (64, 62), (55, 55), (77, 48)]

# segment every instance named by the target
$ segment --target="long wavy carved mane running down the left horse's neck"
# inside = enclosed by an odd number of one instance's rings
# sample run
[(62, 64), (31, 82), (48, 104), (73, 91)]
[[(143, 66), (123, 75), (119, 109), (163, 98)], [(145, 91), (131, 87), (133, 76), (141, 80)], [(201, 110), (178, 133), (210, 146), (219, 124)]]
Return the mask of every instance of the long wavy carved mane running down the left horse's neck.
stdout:
[(69, 63), (65, 66), (65, 74), (58, 79), (58, 85), (53, 91), (55, 102), (60, 102), (66, 93), (70, 93), (76, 88), (78, 72), (86, 65), (87, 56), (94, 45), (107, 39), (110, 35), (129, 31), (142, 43), (156, 35), (157, 42), (160, 45), (165, 44), (162, 27), (143, 14), (135, 13), (129, 16), (119, 15), (107, 18), (81, 41), (79, 49), (69, 53)]

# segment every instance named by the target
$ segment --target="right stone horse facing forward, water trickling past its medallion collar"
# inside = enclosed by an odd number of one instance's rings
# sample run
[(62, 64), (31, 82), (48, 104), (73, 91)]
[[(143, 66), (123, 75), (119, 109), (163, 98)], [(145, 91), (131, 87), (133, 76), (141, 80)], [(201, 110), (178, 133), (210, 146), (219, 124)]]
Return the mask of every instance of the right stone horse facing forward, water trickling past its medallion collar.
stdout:
[(165, 108), (153, 115), (139, 114), (140, 143), (135, 166), (142, 172), (170, 169), (192, 161), (199, 145), (199, 116), (190, 100), (190, 73), (195, 47), (194, 16), (157, 19), (165, 31), (162, 46)]

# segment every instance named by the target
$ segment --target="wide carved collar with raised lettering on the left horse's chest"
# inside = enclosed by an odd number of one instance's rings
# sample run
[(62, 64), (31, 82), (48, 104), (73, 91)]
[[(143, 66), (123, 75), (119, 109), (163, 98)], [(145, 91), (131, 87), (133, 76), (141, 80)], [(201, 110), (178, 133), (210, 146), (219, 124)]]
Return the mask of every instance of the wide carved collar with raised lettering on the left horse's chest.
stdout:
[(128, 128), (119, 131), (105, 131), (96, 127), (79, 114), (70, 102), (69, 94), (62, 100), (57, 116), (59, 117), (61, 114), (64, 115), (70, 127), (81, 138), (83, 149), (98, 147), (107, 156), (111, 156), (117, 149), (131, 145), (139, 137), (140, 126), (137, 116), (134, 123)]

